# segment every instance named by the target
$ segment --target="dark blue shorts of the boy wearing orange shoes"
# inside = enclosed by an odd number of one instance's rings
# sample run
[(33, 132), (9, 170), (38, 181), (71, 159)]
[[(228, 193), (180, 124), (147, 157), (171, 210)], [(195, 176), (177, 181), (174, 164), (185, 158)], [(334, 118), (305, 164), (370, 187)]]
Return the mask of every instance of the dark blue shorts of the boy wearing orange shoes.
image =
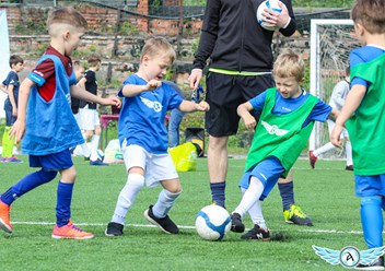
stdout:
[(42, 167), (46, 172), (60, 172), (73, 166), (71, 153), (65, 150), (47, 155), (30, 155), (31, 167)]

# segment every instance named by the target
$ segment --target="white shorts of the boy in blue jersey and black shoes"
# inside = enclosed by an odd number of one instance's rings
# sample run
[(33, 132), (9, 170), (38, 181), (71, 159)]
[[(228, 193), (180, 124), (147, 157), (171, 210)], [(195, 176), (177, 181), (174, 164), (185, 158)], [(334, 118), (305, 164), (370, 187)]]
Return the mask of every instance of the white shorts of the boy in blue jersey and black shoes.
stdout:
[(131, 167), (143, 168), (145, 185), (148, 187), (159, 186), (162, 180), (179, 178), (168, 153), (154, 154), (145, 151), (140, 145), (127, 146), (125, 142), (121, 151), (127, 172)]

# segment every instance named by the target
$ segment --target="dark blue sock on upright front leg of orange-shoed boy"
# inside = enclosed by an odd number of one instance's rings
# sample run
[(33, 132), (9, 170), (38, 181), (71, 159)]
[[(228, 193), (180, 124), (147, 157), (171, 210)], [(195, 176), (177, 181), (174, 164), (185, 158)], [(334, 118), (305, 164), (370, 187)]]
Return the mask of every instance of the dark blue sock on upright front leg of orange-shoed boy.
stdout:
[(59, 181), (56, 203), (56, 225), (59, 227), (67, 225), (71, 219), (72, 190), (73, 184)]

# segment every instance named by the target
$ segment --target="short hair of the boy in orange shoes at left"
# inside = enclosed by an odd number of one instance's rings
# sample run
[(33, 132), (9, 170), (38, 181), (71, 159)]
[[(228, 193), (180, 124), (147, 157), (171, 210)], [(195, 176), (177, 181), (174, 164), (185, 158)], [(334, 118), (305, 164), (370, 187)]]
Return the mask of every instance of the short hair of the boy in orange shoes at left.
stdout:
[(54, 27), (57, 24), (65, 24), (71, 27), (74, 27), (79, 31), (86, 31), (89, 24), (83, 15), (71, 7), (54, 9), (49, 12), (47, 19), (47, 27), (49, 35), (54, 36), (57, 33), (57, 27)]

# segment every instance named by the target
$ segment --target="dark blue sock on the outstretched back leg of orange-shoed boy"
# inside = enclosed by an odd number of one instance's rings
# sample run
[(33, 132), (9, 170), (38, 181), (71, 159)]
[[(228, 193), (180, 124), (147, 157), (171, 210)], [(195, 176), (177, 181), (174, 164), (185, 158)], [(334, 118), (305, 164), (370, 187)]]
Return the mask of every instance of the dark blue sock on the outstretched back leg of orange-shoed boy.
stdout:
[(13, 185), (7, 192), (1, 195), (1, 201), (8, 205), (11, 205), (13, 201), (22, 197), (24, 193), (55, 179), (56, 175), (57, 172), (44, 172), (43, 169), (32, 173)]

